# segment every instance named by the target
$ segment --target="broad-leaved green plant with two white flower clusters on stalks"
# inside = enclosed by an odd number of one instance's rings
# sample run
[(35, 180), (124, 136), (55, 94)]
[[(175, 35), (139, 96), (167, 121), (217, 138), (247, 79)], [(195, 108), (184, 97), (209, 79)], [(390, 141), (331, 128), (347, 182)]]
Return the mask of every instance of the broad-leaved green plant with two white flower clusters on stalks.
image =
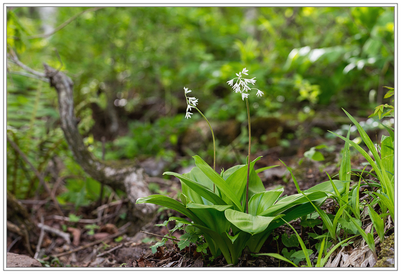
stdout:
[[(302, 193), (294, 180), (299, 190), (298, 194), (284, 198), (279, 198), (284, 191), (282, 188), (265, 190), (258, 173), (274, 166), (255, 170), (255, 163), (261, 157), (250, 161), (251, 125), (248, 91), (251, 88), (248, 84), (254, 84), (256, 80), (255, 77), (243, 78), (242, 74), (248, 75), (247, 72), (248, 70), (244, 68), (242, 72), (237, 73), (237, 78), (228, 81), (247, 104), (249, 124), (247, 163), (218, 174), (202, 158), (194, 156), (196, 167), (189, 173), (183, 175), (173, 172), (164, 173), (180, 179), (181, 202), (163, 195), (150, 195), (136, 201), (138, 204), (153, 203), (165, 206), (185, 215), (191, 221), (179, 217), (170, 219), (199, 229), (212, 256), (223, 254), (226, 261), (234, 265), (238, 263), (246, 247), (251, 252), (259, 252), (275, 228), (286, 221), (314, 212), (315, 209), (309, 201), (320, 206), (328, 197), (328, 193), (334, 193), (334, 189), (340, 194), (345, 191), (345, 184), (339, 180), (320, 183)], [(234, 83), (235, 80), (236, 83)], [(184, 90), (185, 94), (190, 92), (186, 88)], [(263, 92), (257, 89), (257, 95), (261, 96)], [(188, 105), (186, 118), (189, 118), (192, 114), (189, 111), (191, 107), (195, 107), (197, 99), (186, 97), (186, 100)]]

